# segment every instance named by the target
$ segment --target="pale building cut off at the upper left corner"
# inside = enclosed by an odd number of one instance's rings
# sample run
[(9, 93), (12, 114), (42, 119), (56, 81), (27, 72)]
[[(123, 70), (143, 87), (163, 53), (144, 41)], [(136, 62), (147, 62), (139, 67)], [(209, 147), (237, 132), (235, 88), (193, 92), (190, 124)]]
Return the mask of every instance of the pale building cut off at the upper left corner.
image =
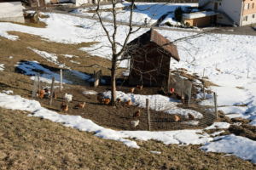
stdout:
[(0, 21), (25, 23), (20, 1), (0, 0)]

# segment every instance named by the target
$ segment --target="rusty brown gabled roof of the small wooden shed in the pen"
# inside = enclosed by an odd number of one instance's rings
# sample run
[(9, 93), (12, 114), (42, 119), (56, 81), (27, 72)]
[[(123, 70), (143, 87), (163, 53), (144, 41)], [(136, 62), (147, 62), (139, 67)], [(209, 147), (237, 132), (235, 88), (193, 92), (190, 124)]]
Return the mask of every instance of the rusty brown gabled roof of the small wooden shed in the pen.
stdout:
[[(178, 56), (178, 53), (177, 53), (176, 45), (174, 45), (169, 40), (167, 40), (166, 37), (163, 37), (162, 35), (160, 35), (160, 33), (158, 33), (157, 31), (154, 31), (154, 29), (152, 29), (152, 28), (149, 31), (145, 32), (140, 37), (137, 37), (134, 40), (132, 40), (131, 42), (129, 42), (127, 44), (127, 46), (129, 48), (129, 50), (134, 51), (134, 50), (137, 50), (138, 48), (143, 48), (145, 45), (148, 44), (148, 42), (153, 42), (154, 44), (156, 44), (160, 48), (164, 49), (165, 53), (167, 55), (169, 55), (170, 57), (172, 57), (173, 59), (176, 59), (177, 61), (180, 60), (179, 56)], [(169, 44), (165, 45), (165, 46), (162, 46), (166, 43), (169, 43)], [(134, 44), (137, 44), (136, 49), (132, 48), (132, 46)], [(129, 52), (127, 52), (127, 54), (129, 54)]]

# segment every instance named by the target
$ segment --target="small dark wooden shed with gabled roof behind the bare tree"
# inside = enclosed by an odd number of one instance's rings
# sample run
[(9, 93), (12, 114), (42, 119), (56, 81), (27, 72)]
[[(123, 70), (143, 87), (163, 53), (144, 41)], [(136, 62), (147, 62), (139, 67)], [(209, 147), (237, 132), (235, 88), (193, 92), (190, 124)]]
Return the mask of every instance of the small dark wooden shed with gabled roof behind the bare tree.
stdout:
[(131, 57), (130, 85), (168, 85), (171, 58), (180, 60), (177, 47), (173, 43), (151, 29), (127, 45), (124, 57)]

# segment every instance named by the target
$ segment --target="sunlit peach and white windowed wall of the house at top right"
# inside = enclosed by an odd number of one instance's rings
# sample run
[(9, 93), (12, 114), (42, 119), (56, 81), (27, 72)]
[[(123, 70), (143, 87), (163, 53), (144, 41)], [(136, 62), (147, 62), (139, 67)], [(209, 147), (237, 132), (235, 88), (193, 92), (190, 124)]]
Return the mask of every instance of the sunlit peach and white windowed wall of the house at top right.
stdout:
[[(245, 9), (245, 6), (247, 4), (249, 8)], [(253, 18), (253, 14), (254, 14), (254, 18)], [(247, 20), (244, 20), (246, 16), (247, 16)], [(252, 1), (245, 0), (242, 6), (241, 26), (255, 24), (255, 23), (256, 23), (256, 0), (252, 0)]]

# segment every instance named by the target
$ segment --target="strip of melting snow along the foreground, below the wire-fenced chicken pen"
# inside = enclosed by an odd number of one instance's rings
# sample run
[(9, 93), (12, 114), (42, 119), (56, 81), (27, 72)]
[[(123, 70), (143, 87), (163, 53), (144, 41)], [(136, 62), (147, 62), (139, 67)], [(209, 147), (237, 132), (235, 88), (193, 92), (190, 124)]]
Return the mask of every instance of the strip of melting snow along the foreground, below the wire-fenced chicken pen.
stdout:
[[(8, 91), (5, 91), (5, 93), (6, 92)], [(96, 123), (88, 119), (84, 119), (81, 116), (60, 115), (55, 111), (49, 111), (42, 107), (36, 100), (24, 99), (19, 95), (8, 95), (4, 93), (0, 93), (0, 107), (12, 110), (29, 111), (32, 114), (29, 114), (28, 116), (38, 116), (49, 119), (53, 122), (64, 123), (64, 126), (75, 127), (80, 131), (95, 132), (97, 137), (103, 139), (113, 139), (122, 142), (131, 148), (139, 148), (139, 146), (137, 145), (136, 141), (131, 141), (127, 138), (145, 141), (148, 139), (156, 139), (162, 141), (164, 144), (180, 144), (180, 146), (188, 144), (204, 144), (204, 146), (201, 147), (202, 150), (224, 152), (229, 154), (232, 153), (241, 159), (251, 160), (253, 163), (256, 163), (254, 156), (256, 151), (256, 142), (241, 136), (236, 136), (234, 134), (216, 137), (214, 140), (221, 140), (211, 142), (213, 138), (210, 137), (210, 134), (204, 133), (202, 130), (177, 130), (162, 132), (115, 131), (98, 126)], [(217, 122), (209, 128), (216, 128), (216, 126), (227, 128), (229, 127), (229, 123)], [(223, 133), (223, 131), (218, 133)], [(218, 133), (212, 133), (212, 135), (215, 136)]]

